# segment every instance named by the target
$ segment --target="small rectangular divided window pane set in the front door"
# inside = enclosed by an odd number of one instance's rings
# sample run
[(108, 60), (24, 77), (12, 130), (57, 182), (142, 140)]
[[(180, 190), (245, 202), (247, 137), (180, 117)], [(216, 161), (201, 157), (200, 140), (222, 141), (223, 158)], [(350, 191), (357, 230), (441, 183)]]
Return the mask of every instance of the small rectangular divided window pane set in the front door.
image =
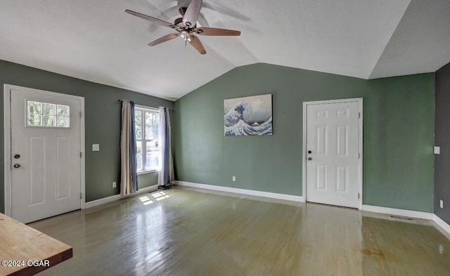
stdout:
[(27, 100), (27, 126), (70, 127), (70, 106)]

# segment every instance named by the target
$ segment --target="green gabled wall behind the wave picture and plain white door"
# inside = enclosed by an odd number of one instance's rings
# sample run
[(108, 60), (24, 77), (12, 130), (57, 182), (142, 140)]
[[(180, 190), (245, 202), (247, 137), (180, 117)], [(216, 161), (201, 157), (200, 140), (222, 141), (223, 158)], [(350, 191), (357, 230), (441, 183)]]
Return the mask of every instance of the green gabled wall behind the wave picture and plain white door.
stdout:
[[(224, 137), (224, 99), (266, 93), (274, 135)], [(433, 74), (364, 80), (237, 67), (176, 100), (176, 179), (302, 195), (302, 103), (340, 98), (364, 98), (364, 204), (432, 212)]]

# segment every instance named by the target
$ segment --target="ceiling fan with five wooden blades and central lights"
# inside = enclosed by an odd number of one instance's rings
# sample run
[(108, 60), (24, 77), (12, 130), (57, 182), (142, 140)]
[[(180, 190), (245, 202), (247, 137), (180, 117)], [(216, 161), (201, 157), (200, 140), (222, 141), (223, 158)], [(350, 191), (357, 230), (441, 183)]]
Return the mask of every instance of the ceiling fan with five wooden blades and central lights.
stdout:
[(150, 22), (169, 27), (175, 29), (176, 32), (173, 34), (167, 34), (164, 37), (160, 37), (153, 42), (150, 42), (148, 46), (155, 46), (158, 44), (162, 44), (162, 42), (169, 41), (176, 37), (181, 37), (184, 39), (184, 43), (187, 44), (189, 42), (198, 53), (205, 55), (206, 50), (203, 47), (203, 44), (200, 42), (200, 39), (195, 36), (205, 35), (205, 36), (239, 36), (240, 31), (235, 31), (233, 29), (218, 29), (218, 28), (210, 28), (210, 27), (197, 27), (198, 15), (200, 15), (200, 8), (202, 7), (203, 0), (192, 0), (187, 8), (181, 7), (179, 8), (179, 13), (182, 18), (176, 18), (174, 24), (166, 22), (164, 20), (160, 20), (158, 18), (152, 18), (148, 15), (143, 15), (142, 13), (136, 13), (136, 11), (125, 10), (125, 13), (129, 13), (131, 15), (137, 16), (138, 18), (142, 18), (148, 20)]

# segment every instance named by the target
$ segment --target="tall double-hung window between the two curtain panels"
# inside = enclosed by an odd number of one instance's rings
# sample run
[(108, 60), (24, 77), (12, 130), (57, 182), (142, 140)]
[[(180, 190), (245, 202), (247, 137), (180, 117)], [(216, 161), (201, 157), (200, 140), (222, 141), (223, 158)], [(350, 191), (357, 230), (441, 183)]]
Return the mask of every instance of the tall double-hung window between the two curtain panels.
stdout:
[(160, 112), (150, 108), (134, 108), (137, 171), (154, 171), (159, 166)]

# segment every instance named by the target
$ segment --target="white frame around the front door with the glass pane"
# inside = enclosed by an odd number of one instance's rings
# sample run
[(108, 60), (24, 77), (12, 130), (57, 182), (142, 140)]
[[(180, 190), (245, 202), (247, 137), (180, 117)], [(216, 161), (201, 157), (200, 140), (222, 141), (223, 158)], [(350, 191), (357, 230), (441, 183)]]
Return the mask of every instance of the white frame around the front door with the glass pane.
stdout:
[(5, 195), (5, 215), (11, 216), (12, 209), (12, 179), (11, 179), (11, 89), (21, 90), (29, 93), (37, 93), (44, 96), (57, 96), (63, 98), (70, 98), (72, 100), (80, 101), (80, 146), (81, 146), (81, 158), (80, 158), (80, 180), (81, 180), (81, 209), (85, 209), (86, 196), (85, 196), (85, 168), (84, 168), (84, 97), (73, 96), (69, 94), (56, 93), (50, 91), (44, 91), (34, 88), (27, 88), (23, 86), (15, 86), (12, 84), (4, 84), (4, 195)]

